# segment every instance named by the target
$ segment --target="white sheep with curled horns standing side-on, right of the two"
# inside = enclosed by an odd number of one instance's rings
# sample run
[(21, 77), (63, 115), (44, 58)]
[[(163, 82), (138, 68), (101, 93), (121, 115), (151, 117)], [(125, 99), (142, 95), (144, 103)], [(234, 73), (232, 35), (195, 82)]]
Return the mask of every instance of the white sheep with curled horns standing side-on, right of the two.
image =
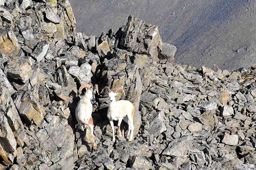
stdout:
[(127, 100), (120, 100), (120, 101), (115, 100), (115, 97), (117, 96), (118, 91), (122, 91), (124, 93), (124, 89), (122, 87), (114, 88), (110, 90), (110, 88), (106, 86), (102, 89), (102, 91), (104, 91), (104, 89), (108, 90), (109, 105), (108, 105), (107, 117), (109, 119), (112, 132), (113, 132), (112, 141), (115, 143), (115, 129), (114, 129), (113, 121), (118, 121), (118, 125), (117, 125), (118, 135), (119, 135), (119, 138), (122, 138), (120, 125), (121, 125), (122, 119), (124, 119), (126, 116), (128, 117), (128, 126), (129, 126), (127, 136), (131, 132), (129, 141), (132, 141), (133, 133), (134, 133), (134, 122), (133, 122), (134, 121), (134, 105)]

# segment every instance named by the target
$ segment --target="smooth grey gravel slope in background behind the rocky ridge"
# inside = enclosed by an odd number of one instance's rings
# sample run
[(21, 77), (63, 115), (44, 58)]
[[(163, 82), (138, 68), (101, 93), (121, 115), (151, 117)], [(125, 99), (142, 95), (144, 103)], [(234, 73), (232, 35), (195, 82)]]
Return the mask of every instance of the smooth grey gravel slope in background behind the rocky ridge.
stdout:
[(117, 31), (128, 15), (159, 27), (164, 42), (177, 47), (176, 62), (221, 69), (256, 62), (256, 1), (253, 0), (74, 0), (80, 32)]

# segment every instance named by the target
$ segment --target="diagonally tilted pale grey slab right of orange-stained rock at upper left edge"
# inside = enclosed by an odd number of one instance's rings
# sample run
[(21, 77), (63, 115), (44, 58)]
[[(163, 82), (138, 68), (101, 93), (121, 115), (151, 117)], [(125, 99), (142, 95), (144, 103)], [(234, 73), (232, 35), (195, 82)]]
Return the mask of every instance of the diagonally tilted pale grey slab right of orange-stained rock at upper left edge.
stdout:
[(48, 41), (42, 41), (41, 43), (39, 43), (37, 45), (37, 47), (35, 48), (35, 50), (33, 51), (33, 53), (31, 54), (32, 57), (37, 61), (40, 62), (41, 60), (43, 60), (43, 58), (46, 55), (46, 52), (49, 48), (49, 42)]

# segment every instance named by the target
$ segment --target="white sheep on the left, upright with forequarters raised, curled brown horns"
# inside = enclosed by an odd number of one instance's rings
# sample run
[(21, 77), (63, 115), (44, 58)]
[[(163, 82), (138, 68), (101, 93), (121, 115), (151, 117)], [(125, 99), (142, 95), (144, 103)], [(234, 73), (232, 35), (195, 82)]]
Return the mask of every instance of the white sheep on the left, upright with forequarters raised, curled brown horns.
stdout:
[(84, 131), (83, 125), (88, 125), (91, 128), (91, 137), (93, 139), (93, 147), (97, 148), (95, 143), (94, 135), (93, 135), (93, 118), (91, 116), (93, 112), (93, 105), (91, 104), (91, 99), (93, 98), (93, 92), (97, 91), (98, 93), (98, 85), (95, 85), (96, 88), (93, 91), (93, 88), (89, 84), (82, 84), (79, 88), (79, 94), (82, 94), (82, 90), (86, 88), (85, 95), (83, 95), (82, 99), (78, 102), (76, 106), (76, 120), (82, 131)]

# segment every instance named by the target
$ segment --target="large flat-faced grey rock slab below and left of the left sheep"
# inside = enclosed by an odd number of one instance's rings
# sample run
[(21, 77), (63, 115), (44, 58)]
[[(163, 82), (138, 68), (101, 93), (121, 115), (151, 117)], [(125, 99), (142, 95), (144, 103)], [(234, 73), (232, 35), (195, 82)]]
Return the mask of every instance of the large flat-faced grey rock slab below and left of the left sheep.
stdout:
[(60, 119), (59, 116), (48, 114), (45, 119), (48, 124), (35, 133), (40, 141), (39, 148), (44, 152), (50, 151), (49, 159), (54, 163), (52, 169), (58, 165), (60, 169), (72, 170), (77, 160), (74, 155), (75, 137), (72, 128), (66, 119)]

